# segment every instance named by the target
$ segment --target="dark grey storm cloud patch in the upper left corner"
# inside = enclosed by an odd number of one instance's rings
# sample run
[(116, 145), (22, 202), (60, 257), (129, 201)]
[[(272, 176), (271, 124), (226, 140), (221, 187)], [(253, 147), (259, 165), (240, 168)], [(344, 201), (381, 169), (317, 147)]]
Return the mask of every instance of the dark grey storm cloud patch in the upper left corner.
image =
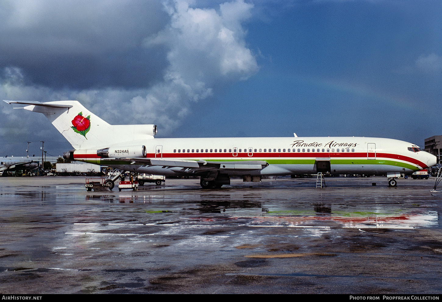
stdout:
[(162, 78), (165, 50), (145, 48), (169, 21), (158, 1), (3, 1), (0, 69), (36, 85), (146, 87)]

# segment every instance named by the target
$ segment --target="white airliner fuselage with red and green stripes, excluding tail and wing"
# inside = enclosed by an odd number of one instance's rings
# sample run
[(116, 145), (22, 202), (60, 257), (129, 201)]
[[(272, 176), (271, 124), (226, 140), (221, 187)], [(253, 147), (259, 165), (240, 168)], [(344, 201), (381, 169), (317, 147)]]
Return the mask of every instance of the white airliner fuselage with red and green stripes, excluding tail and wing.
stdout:
[[(229, 176), (312, 174), (317, 173), (318, 168), (329, 170), (331, 174), (412, 173), (436, 162), (434, 155), (425, 151), (415, 152), (418, 147), (412, 143), (373, 137), (155, 138), (138, 143), (146, 147), (146, 158), (268, 163), (268, 166), (259, 170), (223, 171)], [(136, 142), (131, 144), (136, 145)], [(124, 149), (121, 144), (116, 147)], [(77, 150), (74, 158), (134, 172), (198, 175), (197, 171), (183, 167), (133, 165), (130, 162), (110, 161), (95, 154), (98, 148)], [(322, 166), (318, 167), (318, 163)]]

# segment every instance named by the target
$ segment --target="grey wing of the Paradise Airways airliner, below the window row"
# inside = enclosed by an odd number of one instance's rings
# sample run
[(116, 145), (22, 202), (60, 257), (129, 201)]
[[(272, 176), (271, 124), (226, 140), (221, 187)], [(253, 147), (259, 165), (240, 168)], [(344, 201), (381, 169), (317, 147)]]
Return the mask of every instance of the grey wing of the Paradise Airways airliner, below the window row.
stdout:
[(168, 160), (168, 159), (148, 159), (142, 157), (136, 158), (116, 158), (115, 160), (127, 160), (131, 164), (163, 166), (163, 167), (179, 167), (191, 168), (195, 173), (198, 170), (260, 170), (269, 164), (265, 161), (240, 161), (240, 162), (222, 162), (222, 161), (206, 161), (206, 160)]

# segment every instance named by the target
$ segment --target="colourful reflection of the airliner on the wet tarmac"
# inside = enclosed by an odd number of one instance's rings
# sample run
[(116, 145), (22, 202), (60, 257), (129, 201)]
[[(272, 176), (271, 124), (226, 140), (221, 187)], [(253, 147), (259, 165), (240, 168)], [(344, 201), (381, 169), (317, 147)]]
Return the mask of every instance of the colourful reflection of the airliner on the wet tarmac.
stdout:
[[(225, 196), (224, 196), (225, 197)], [(158, 209), (146, 211), (148, 213), (168, 212), (167, 197), (164, 195), (87, 195), (86, 200), (100, 200), (111, 204), (157, 204)], [(335, 227), (336, 224), (347, 228), (388, 228), (388, 229), (412, 229), (416, 227), (435, 227), (438, 225), (438, 212), (424, 209), (408, 208), (404, 205), (373, 205), (355, 204), (354, 211), (348, 211), (348, 206), (341, 208), (339, 205), (315, 203), (312, 209), (276, 209), (263, 208), (265, 204), (258, 201), (239, 200), (231, 201), (225, 198), (217, 200), (187, 201), (186, 210), (195, 214), (222, 213), (225, 219), (246, 218), (250, 219), (251, 227), (300, 227), (322, 228)], [(292, 204), (293, 205), (293, 204)], [(373, 206), (373, 208), (370, 208)], [(165, 209), (166, 208), (166, 209)], [(358, 210), (356, 210), (356, 208)], [(363, 210), (361, 210), (363, 208)], [(175, 211), (175, 210), (174, 210)], [(198, 217), (189, 219), (200, 219)], [(207, 219), (202, 217), (201, 219)], [(217, 217), (217, 219), (223, 219)], [(318, 225), (318, 223), (320, 225)]]

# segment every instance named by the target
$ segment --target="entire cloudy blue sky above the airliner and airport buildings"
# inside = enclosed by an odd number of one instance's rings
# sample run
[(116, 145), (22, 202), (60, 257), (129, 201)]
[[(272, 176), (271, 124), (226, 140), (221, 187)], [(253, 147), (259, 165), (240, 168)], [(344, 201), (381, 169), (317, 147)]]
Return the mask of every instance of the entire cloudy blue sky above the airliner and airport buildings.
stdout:
[[(440, 0), (1, 0), (0, 97), (158, 137), (442, 135)], [(0, 155), (71, 146), (0, 105)]]

